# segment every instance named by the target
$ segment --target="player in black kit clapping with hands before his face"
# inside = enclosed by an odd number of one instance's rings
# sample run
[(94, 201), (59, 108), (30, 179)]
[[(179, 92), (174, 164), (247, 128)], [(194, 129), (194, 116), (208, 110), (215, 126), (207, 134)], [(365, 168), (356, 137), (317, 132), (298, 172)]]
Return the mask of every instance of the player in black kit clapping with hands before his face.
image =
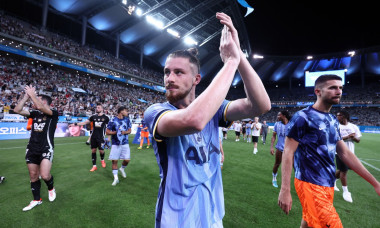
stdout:
[[(33, 119), (29, 143), (26, 147), (25, 160), (28, 165), (30, 185), (34, 200), (24, 207), (29, 211), (42, 203), (40, 197), (41, 181), (45, 181), (49, 190), (49, 201), (56, 198), (53, 176), (50, 174), (54, 154), (54, 132), (58, 122), (58, 112), (50, 109), (51, 97), (36, 95), (33, 86), (25, 86), (25, 95), (14, 108), (14, 112)], [(23, 110), (25, 103), (31, 99), (36, 111)]]

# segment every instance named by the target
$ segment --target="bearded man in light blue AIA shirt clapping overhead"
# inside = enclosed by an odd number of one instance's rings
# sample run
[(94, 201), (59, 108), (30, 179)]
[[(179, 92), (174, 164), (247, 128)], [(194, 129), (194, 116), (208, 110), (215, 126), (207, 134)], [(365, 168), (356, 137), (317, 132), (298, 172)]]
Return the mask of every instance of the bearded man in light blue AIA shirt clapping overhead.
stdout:
[[(161, 177), (157, 228), (223, 227), (218, 127), (270, 109), (268, 94), (240, 49), (231, 18), (224, 13), (216, 17), (224, 25), (219, 48), (224, 66), (214, 80), (196, 98), (195, 87), (201, 80), (197, 50), (175, 51), (164, 67), (168, 102), (145, 111)], [(227, 101), (236, 69), (247, 98)]]

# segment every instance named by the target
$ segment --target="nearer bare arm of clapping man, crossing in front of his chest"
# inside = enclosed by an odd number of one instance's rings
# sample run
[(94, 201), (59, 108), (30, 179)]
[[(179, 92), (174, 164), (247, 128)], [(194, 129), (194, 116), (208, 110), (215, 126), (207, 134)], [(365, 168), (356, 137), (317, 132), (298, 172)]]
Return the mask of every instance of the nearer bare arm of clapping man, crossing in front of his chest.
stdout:
[[(231, 86), (240, 61), (239, 50), (225, 26), (220, 40), (220, 56), (224, 65), (207, 89), (189, 106), (161, 114), (157, 122), (156, 133), (164, 137), (193, 134), (201, 131), (222, 105)], [(170, 81), (174, 74), (168, 72), (165, 77)], [(180, 76), (179, 76), (180, 77)], [(194, 77), (193, 85), (200, 82), (200, 75)]]

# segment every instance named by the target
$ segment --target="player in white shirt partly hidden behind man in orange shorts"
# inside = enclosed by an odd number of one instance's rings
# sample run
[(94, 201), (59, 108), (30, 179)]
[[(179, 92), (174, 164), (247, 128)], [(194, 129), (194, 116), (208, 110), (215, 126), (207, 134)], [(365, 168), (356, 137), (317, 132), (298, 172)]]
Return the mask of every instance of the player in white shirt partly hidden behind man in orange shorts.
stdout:
[[(340, 134), (342, 136), (342, 139), (344, 143), (347, 145), (347, 147), (352, 151), (352, 153), (355, 153), (355, 145), (354, 143), (359, 143), (360, 142), (360, 137), (362, 136), (358, 126), (356, 126), (353, 123), (348, 122), (350, 120), (350, 115), (348, 112), (341, 110), (337, 113), (337, 118), (339, 121), (339, 129), (340, 129)], [(347, 202), (352, 203), (352, 197), (351, 193), (348, 191), (347, 188), (347, 172), (348, 172), (348, 166), (344, 164), (344, 162), (339, 158), (339, 156), (335, 155), (336, 159), (336, 178), (340, 179), (342, 182), (342, 188), (343, 188), (343, 199)], [(334, 189), (335, 191), (340, 191), (339, 188), (336, 186), (336, 181), (335, 181), (335, 186)]]

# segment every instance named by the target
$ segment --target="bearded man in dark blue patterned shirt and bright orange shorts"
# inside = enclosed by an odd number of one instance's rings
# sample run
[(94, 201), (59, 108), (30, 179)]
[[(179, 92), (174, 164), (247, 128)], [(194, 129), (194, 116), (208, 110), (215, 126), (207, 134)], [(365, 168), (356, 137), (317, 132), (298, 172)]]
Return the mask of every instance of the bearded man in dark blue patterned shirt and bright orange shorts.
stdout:
[(320, 76), (314, 86), (317, 101), (298, 111), (288, 123), (278, 205), (286, 214), (292, 207), (290, 176), (294, 162), (294, 185), (302, 205), (301, 227), (343, 227), (333, 205), (335, 151), (380, 195), (380, 183), (347, 148), (336, 117), (329, 113), (334, 104), (339, 104), (342, 88), (339, 76)]

